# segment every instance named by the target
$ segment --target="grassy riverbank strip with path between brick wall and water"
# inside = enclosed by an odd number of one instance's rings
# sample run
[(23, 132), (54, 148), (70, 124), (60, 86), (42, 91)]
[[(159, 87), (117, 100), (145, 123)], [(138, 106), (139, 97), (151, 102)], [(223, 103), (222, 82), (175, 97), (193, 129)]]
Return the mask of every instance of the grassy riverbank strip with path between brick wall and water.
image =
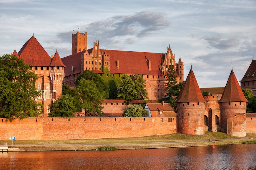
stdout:
[[(101, 146), (114, 146), (117, 149), (149, 149), (174, 148), (209, 145), (242, 144), (244, 141), (256, 138), (256, 134), (247, 134), (243, 138), (235, 138), (221, 132), (206, 132), (194, 136), (185, 134), (168, 134), (146, 136), (140, 138), (115, 139), (80, 139), (80, 140), (49, 140), (49, 141), (15, 141), (15, 146), (8, 142), (8, 151), (48, 151), (48, 150), (97, 150)], [(212, 140), (212, 142), (209, 141)]]

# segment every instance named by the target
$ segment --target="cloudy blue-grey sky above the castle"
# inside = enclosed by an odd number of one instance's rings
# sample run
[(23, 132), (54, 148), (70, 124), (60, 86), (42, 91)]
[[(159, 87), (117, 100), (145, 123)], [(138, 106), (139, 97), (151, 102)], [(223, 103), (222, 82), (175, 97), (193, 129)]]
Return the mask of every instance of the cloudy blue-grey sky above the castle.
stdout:
[(256, 0), (0, 0), (0, 55), (34, 33), (50, 56), (65, 57), (73, 30), (86, 30), (88, 48), (99, 40), (102, 49), (166, 53), (171, 44), (184, 78), (192, 64), (199, 87), (224, 87), (231, 60), (240, 81), (256, 59), (255, 16)]

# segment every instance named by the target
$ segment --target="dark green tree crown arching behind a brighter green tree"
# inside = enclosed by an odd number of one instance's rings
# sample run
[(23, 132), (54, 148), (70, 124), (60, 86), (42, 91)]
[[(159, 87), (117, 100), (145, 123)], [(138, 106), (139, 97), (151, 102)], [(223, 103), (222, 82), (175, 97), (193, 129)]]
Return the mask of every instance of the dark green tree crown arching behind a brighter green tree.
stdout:
[(76, 86), (78, 85), (78, 81), (84, 78), (85, 80), (92, 80), (96, 87), (101, 91), (102, 95), (105, 99), (108, 99), (109, 97), (109, 84), (107, 81), (104, 81), (101, 76), (97, 73), (94, 73), (90, 70), (85, 70), (80, 74), (76, 79)]

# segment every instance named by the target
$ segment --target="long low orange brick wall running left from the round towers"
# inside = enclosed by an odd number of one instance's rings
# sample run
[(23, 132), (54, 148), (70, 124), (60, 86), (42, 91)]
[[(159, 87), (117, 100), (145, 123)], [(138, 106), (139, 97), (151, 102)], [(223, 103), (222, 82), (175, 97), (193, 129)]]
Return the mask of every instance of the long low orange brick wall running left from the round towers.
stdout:
[(168, 117), (0, 118), (0, 140), (68, 140), (129, 138), (177, 133)]

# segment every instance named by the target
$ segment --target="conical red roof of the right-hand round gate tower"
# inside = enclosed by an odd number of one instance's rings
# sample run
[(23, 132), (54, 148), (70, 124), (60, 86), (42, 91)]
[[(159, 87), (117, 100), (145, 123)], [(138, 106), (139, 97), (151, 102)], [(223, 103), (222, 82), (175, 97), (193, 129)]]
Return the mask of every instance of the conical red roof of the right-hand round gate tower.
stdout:
[(233, 68), (229, 75), (228, 82), (220, 99), (220, 102), (248, 102), (244, 97), (241, 87), (235, 77)]

